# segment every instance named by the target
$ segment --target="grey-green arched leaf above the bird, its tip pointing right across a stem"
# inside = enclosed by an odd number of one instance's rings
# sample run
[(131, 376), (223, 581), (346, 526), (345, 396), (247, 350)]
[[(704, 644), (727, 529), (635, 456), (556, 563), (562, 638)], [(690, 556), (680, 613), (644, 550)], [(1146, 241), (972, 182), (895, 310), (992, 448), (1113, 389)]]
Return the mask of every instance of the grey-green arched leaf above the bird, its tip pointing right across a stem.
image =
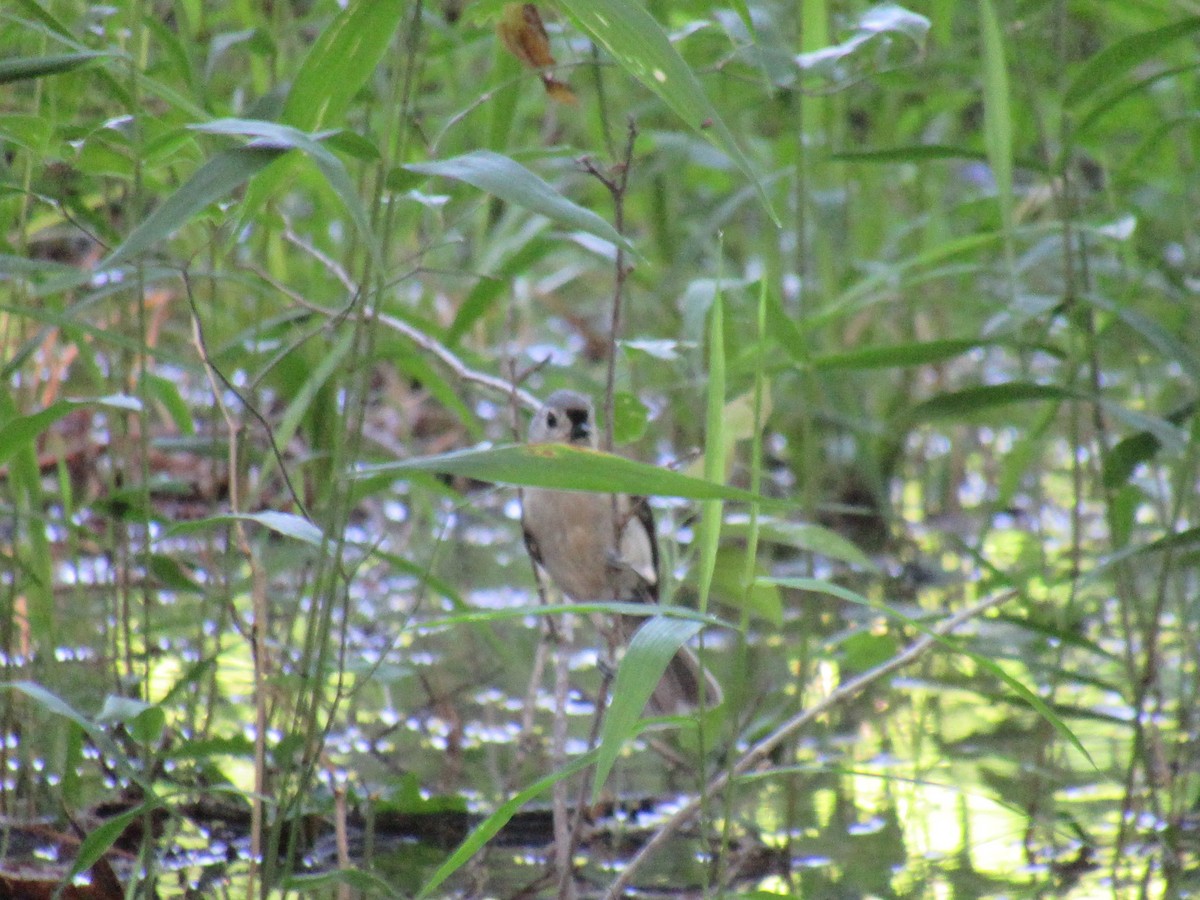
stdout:
[(560, 226), (594, 234), (626, 250), (632, 245), (592, 210), (563, 197), (546, 181), (521, 163), (491, 150), (475, 150), (462, 156), (404, 167), (422, 175), (439, 175), (462, 181), (502, 200), (546, 216)]

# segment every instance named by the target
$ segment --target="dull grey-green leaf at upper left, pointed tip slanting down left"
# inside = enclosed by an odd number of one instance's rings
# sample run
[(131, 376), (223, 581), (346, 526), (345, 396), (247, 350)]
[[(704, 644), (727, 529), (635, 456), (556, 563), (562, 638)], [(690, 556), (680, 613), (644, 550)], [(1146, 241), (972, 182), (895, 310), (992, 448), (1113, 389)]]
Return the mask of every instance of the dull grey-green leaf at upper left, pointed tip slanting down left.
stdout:
[(282, 148), (240, 146), (217, 154), (146, 216), (97, 268), (112, 269), (169, 238), (210, 203), (228, 197), (286, 152)]

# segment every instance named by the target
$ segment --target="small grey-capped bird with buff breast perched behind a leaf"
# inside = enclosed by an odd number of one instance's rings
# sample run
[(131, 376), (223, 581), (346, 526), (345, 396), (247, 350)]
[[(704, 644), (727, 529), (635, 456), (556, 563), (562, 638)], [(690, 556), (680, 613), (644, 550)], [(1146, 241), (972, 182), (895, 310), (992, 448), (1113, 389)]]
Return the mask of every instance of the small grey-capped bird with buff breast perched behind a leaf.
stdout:
[[(529, 425), (530, 444), (571, 444), (595, 449), (592, 401), (575, 391), (554, 391)], [(552, 491), (524, 491), (524, 539), (529, 556), (558, 588), (578, 602), (659, 599), (659, 547), (654, 517), (644, 497)], [(642, 619), (619, 617), (616, 641), (628, 641)], [(700, 702), (720, 702), (720, 686), (686, 647), (671, 660), (650, 696), (649, 708), (674, 714)]]

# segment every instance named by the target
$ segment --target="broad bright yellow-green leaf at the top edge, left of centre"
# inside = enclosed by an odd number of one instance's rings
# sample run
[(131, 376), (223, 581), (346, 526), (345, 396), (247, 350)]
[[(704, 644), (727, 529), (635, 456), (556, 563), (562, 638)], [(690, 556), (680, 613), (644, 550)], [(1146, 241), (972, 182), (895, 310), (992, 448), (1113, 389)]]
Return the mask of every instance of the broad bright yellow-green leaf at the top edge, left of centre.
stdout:
[(283, 103), (282, 119), (301, 131), (341, 125), (354, 95), (383, 59), (401, 17), (401, 2), (352, 2), (320, 32)]

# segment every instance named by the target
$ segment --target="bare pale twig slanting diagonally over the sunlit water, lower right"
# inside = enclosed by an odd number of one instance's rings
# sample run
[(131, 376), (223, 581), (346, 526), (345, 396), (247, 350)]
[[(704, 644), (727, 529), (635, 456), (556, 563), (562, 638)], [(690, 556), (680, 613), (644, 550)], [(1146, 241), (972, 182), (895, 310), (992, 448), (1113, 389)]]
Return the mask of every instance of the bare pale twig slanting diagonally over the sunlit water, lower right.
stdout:
[(712, 781), (709, 781), (708, 787), (700, 793), (700, 797), (689, 800), (682, 809), (679, 809), (679, 811), (676, 812), (671, 820), (664, 824), (649, 841), (646, 842), (646, 845), (637, 852), (637, 856), (629, 860), (629, 864), (622, 870), (617, 880), (608, 886), (608, 890), (605, 893), (605, 900), (617, 900), (618, 898), (624, 896), (625, 890), (629, 888), (629, 883), (634, 880), (637, 870), (641, 869), (655, 853), (661, 851), (662, 847), (666, 846), (667, 841), (670, 841), (671, 838), (680, 828), (683, 828), (683, 826), (686, 824), (692, 816), (696, 815), (696, 812), (700, 811), (702, 798), (718, 793), (724, 790), (724, 787), (732, 779), (738, 775), (744, 775), (754, 769), (761, 762), (767, 760), (775, 748), (796, 734), (805, 725), (809, 725), (817, 716), (823, 715), (833, 707), (856, 697), (865, 688), (880, 680), (884, 676), (892, 674), (898, 668), (902, 668), (908, 664), (914, 662), (917, 659), (929, 653), (929, 650), (937, 644), (940, 637), (944, 637), (960, 625), (971, 622), (991, 607), (1010, 600), (1016, 596), (1016, 593), (1018, 592), (1015, 590), (1006, 590), (1002, 594), (997, 594), (996, 596), (989, 598), (976, 604), (974, 606), (962, 610), (948, 619), (943, 619), (930, 629), (929, 634), (922, 635), (919, 638), (908, 644), (904, 652), (898, 653), (883, 665), (876, 666), (857, 678), (852, 678), (816, 706), (805, 709), (803, 713), (797, 713), (786, 722), (780, 725), (774, 732), (750, 748), (746, 755), (738, 760), (733, 768), (721, 772)]

